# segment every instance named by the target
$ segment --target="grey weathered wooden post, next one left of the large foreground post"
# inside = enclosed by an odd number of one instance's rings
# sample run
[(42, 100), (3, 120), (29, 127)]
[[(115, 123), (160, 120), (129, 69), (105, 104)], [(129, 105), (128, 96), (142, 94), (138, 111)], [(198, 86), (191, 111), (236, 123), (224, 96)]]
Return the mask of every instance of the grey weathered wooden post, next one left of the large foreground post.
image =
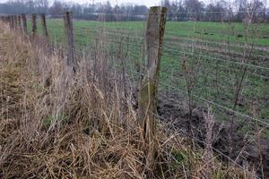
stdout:
[(73, 23), (72, 23), (72, 12), (65, 12), (65, 38), (67, 46), (67, 65), (71, 66), (75, 72), (78, 64), (74, 59), (74, 34), (73, 34)]

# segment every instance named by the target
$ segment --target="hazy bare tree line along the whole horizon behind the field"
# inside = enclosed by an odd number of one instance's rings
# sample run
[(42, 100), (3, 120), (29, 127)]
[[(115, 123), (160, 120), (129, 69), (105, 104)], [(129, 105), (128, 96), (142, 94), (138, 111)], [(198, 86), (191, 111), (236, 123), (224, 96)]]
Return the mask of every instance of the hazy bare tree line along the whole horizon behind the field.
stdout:
[[(269, 21), (266, 0), (234, 0), (228, 3), (217, 0), (204, 4), (199, 0), (162, 0), (168, 7), (169, 21)], [(97, 4), (76, 4), (48, 0), (11, 0), (0, 4), (0, 13), (46, 13), (49, 17), (62, 15), (66, 10), (74, 13), (74, 18), (100, 21), (141, 21), (148, 13), (145, 5), (120, 4), (112, 6), (109, 2)]]

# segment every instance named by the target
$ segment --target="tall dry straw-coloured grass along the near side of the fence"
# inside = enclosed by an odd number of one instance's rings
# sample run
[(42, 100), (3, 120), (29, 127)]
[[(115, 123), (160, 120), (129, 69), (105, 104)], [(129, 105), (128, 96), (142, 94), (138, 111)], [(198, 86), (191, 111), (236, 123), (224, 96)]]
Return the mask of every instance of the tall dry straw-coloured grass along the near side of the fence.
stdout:
[(206, 178), (208, 169), (211, 178), (252, 177), (216, 157), (206, 167), (202, 149), (161, 125), (156, 166), (147, 168), (133, 95), (121, 91), (102, 44), (74, 73), (58, 53), (1, 27), (1, 178)]

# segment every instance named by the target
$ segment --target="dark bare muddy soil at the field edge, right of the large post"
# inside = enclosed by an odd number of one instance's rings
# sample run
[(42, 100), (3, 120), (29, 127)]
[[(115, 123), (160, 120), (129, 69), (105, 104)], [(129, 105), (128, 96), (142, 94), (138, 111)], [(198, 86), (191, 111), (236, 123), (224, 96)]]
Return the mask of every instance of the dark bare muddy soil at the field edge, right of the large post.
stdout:
[[(192, 135), (198, 140), (204, 141), (206, 134), (204, 113), (207, 112), (207, 109), (205, 107), (195, 107), (190, 121), (187, 101), (180, 100), (180, 97), (172, 95), (170, 92), (161, 92), (160, 96), (158, 113), (166, 119), (165, 122), (169, 124), (169, 127), (178, 132), (180, 132), (179, 130), (187, 132), (188, 126), (191, 124)], [(254, 167), (257, 175), (261, 178), (269, 178), (269, 140), (265, 138), (258, 140), (257, 137), (251, 139), (243, 132), (239, 132), (243, 127), (244, 124), (236, 122), (231, 132), (229, 118), (227, 122), (218, 122), (216, 119), (213, 126), (213, 136), (215, 136), (213, 138), (213, 148), (230, 156), (241, 166)], [(233, 136), (231, 142), (229, 136)], [(204, 147), (204, 143), (201, 141), (195, 141), (195, 143)], [(221, 159), (228, 160), (227, 158)]]

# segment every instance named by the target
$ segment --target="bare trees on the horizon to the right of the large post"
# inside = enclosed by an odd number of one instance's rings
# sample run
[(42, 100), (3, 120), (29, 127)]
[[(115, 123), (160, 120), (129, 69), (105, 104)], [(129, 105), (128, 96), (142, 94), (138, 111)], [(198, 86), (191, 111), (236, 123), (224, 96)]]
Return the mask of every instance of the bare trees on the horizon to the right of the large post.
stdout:
[(169, 21), (268, 21), (269, 9), (266, 0), (225, 0), (204, 4), (199, 0), (163, 0), (162, 5), (168, 7)]

